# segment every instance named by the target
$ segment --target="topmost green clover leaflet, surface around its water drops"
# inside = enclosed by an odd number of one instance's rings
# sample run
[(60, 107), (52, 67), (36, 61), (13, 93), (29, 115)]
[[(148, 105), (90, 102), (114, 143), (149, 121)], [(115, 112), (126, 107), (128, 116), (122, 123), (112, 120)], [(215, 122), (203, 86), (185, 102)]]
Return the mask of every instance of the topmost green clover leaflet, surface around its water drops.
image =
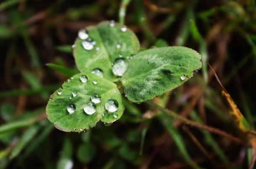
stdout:
[(104, 78), (116, 81), (117, 77), (112, 73), (112, 62), (120, 55), (126, 57), (136, 54), (140, 48), (136, 35), (128, 28), (125, 32), (121, 28), (122, 25), (118, 23), (110, 26), (109, 21), (87, 27), (89, 38), (96, 44), (93, 49), (86, 50), (81, 45), (83, 40), (76, 39), (73, 54), (78, 70), (91, 72), (97, 68), (103, 71)]

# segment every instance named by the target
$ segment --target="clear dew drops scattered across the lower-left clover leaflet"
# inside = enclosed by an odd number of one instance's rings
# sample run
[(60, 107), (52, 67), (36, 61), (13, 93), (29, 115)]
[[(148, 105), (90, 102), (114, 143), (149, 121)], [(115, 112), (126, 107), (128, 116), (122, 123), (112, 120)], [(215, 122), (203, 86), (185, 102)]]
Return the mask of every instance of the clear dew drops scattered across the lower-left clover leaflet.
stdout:
[[(73, 78), (72, 78), (72, 79), (73, 79)], [(81, 76), (79, 77), (79, 80), (81, 81), (81, 83), (87, 83), (88, 77), (87, 77), (86, 75), (81, 75)], [(70, 82), (70, 81), (71, 81), (71, 79), (68, 79), (68, 80), (67, 80), (67, 82)], [(97, 81), (94, 80), (93, 83), (94, 83), (94, 84), (97, 84)], [(58, 95), (61, 95), (62, 93), (63, 93), (62, 89), (59, 89), (59, 90), (57, 91), (57, 94), (58, 94)], [(77, 95), (78, 95), (78, 93), (77, 93), (76, 91), (73, 91), (73, 92), (71, 93), (71, 96), (69, 97), (69, 99), (72, 99), (73, 97), (76, 97)], [(52, 99), (50, 98), (50, 100), (52, 100)], [(84, 106), (83, 106), (84, 112), (85, 112), (87, 115), (89, 115), (89, 116), (93, 115), (93, 114), (96, 112), (96, 110), (97, 110), (97, 104), (100, 103), (101, 100), (102, 100), (102, 99), (101, 99), (101, 96), (100, 96), (99, 94), (97, 94), (97, 93), (93, 94), (93, 95), (91, 96), (91, 101), (89, 101), (88, 103), (85, 103), (85, 104), (84, 104)], [(118, 101), (116, 101), (115, 99), (109, 99), (109, 100), (107, 100), (107, 101), (105, 102), (104, 108), (107, 110), (107, 113), (108, 113), (108, 114), (110, 114), (110, 115), (112, 114), (112, 116), (113, 116), (115, 119), (118, 118), (118, 114), (115, 113), (115, 112), (118, 110)], [(68, 111), (69, 114), (75, 113), (75, 111), (76, 111), (76, 106), (75, 106), (75, 104), (68, 104), (68, 106), (67, 106), (67, 111)], [(105, 112), (102, 113), (102, 116), (106, 116), (106, 113), (105, 113)], [(105, 122), (104, 124), (105, 124), (106, 126), (110, 126), (110, 125), (112, 124), (112, 122), (109, 122), (109, 123), (106, 123), (106, 122)], [(74, 130), (76, 130), (76, 128), (75, 128)], [(83, 129), (80, 129), (80, 131), (83, 131)]]

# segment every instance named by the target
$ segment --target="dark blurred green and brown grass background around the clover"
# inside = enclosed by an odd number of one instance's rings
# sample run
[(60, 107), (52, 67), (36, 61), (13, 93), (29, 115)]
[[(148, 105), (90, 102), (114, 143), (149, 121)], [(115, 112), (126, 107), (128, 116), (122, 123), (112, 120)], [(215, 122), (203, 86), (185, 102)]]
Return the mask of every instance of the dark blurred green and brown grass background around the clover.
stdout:
[(138, 36), (142, 50), (183, 45), (201, 53), (202, 70), (155, 102), (243, 138), (209, 61), (254, 125), (255, 0), (3, 0), (0, 169), (247, 168), (251, 149), (185, 127), (143, 103), (124, 100), (119, 121), (109, 127), (99, 122), (87, 133), (53, 127), (45, 106), (50, 94), (77, 72), (71, 45), (80, 28), (102, 20), (125, 23)]

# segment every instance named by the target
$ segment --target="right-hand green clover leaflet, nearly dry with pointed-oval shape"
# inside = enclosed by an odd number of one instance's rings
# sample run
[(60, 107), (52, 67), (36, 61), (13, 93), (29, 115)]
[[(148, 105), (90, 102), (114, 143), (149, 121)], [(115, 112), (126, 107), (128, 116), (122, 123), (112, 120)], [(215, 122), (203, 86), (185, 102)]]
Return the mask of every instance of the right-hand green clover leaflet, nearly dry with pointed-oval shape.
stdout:
[(133, 57), (121, 78), (130, 101), (141, 103), (180, 86), (201, 68), (201, 55), (173, 46), (142, 51)]

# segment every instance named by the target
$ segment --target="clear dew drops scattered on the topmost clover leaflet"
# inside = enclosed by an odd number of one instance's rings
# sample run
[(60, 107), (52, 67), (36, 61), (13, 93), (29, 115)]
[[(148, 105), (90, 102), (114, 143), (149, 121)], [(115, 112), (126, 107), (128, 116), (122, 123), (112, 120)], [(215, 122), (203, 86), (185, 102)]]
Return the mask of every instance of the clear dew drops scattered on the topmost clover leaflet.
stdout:
[[(114, 28), (115, 27), (115, 21), (111, 20), (110, 23), (109, 23), (109, 26), (110, 26), (110, 28)], [(125, 33), (127, 31), (127, 27), (125, 25), (123, 25), (120, 28), (120, 31), (122, 33)], [(96, 42), (89, 37), (89, 34), (85, 29), (81, 29), (81, 30), (78, 31), (78, 38), (80, 38), (82, 40), (81, 45), (85, 50), (93, 50), (94, 46), (97, 46)], [(75, 48), (75, 47), (76, 47), (75, 45), (72, 45), (72, 48)], [(120, 49), (121, 47), (122, 47), (122, 43), (117, 42), (117, 44), (116, 44), (117, 50)], [(100, 52), (99, 47), (95, 47), (95, 50), (97, 52)], [(123, 57), (123, 55), (120, 53), (119, 58), (115, 59), (115, 61), (113, 61), (113, 63), (112, 63), (112, 72), (114, 73), (114, 75), (115, 76), (123, 76), (123, 74), (125, 73), (125, 71), (128, 68), (128, 61), (127, 60), (133, 58), (134, 56), (135, 55), (132, 54), (130, 56)], [(101, 70), (96, 69), (96, 70), (92, 71), (91, 73), (94, 73), (94, 74), (97, 74), (97, 75), (99, 75), (101, 73), (102, 76), (103, 76), (102, 71), (101, 72), (99, 72), (99, 71), (101, 71)]]

